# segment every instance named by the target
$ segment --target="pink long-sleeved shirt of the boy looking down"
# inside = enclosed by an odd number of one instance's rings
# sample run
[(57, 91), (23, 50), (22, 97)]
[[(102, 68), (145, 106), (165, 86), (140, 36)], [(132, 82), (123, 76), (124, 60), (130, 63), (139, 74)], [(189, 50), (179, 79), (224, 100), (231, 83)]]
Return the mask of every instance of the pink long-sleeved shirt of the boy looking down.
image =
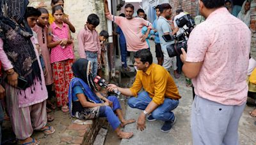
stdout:
[(97, 52), (97, 54), (100, 55), (100, 39), (97, 31), (90, 31), (85, 25), (84, 29), (79, 32), (77, 41), (78, 52), (81, 58), (86, 59), (86, 51)]

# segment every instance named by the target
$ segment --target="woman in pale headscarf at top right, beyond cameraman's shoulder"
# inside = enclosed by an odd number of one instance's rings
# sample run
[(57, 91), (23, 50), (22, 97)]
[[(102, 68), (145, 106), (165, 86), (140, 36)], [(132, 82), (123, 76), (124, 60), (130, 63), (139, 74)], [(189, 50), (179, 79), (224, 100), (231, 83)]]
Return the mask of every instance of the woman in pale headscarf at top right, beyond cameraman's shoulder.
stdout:
[(242, 20), (248, 27), (250, 27), (250, 20), (251, 20), (250, 5), (251, 5), (250, 1), (248, 0), (244, 1), (242, 9), (237, 15), (237, 18)]

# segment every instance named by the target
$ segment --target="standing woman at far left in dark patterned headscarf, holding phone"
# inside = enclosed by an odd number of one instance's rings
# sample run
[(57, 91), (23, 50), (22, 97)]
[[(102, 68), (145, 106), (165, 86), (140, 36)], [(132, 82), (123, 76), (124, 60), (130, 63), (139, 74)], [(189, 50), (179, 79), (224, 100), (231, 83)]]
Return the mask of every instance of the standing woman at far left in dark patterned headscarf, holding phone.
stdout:
[[(13, 132), (20, 144), (39, 144), (31, 138), (33, 130), (49, 135), (54, 128), (45, 126), (47, 90), (35, 38), (24, 19), (28, 3), (0, 1), (0, 60), (6, 76), (6, 105)], [(18, 77), (26, 80), (22, 88)]]

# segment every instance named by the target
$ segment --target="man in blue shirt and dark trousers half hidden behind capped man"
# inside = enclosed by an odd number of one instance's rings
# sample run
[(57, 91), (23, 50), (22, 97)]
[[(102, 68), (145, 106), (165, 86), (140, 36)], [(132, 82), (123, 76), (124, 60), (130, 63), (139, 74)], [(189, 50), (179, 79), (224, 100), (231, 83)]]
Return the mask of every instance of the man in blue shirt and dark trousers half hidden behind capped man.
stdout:
[(156, 6), (156, 16), (157, 16), (157, 18), (153, 22), (154, 31), (153, 31), (152, 34), (155, 36), (154, 40), (155, 40), (155, 43), (156, 43), (157, 64), (162, 66), (163, 61), (164, 61), (164, 55), (163, 55), (163, 52), (161, 50), (160, 39), (159, 39), (159, 35), (158, 35), (158, 32), (157, 32), (157, 20), (160, 16), (159, 5)]

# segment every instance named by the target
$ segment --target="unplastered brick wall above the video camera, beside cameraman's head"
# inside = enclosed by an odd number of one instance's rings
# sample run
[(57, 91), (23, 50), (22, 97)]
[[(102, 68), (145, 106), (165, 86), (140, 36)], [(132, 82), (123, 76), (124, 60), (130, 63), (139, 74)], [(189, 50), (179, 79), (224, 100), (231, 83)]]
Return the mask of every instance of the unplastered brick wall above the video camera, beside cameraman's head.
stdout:
[(182, 8), (184, 11), (190, 13), (192, 17), (195, 17), (197, 14), (196, 0), (171, 0), (170, 4), (174, 7), (173, 10)]

